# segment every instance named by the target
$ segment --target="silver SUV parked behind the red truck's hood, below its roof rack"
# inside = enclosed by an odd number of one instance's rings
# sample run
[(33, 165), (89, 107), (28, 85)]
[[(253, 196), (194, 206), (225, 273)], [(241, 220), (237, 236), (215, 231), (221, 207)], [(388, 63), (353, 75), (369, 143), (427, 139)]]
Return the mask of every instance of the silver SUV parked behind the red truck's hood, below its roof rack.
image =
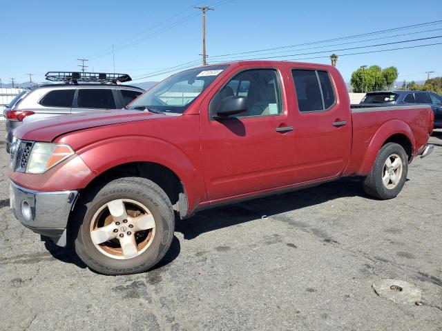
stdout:
[(13, 99), (6, 118), (6, 150), (10, 152), (13, 132), (23, 123), (64, 114), (121, 109), (144, 90), (110, 83), (48, 84), (24, 90)]

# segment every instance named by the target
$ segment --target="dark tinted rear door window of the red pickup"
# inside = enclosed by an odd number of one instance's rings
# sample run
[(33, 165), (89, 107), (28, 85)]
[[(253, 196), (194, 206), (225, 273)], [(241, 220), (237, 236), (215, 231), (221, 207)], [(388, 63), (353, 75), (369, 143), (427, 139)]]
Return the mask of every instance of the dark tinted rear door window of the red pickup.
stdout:
[(291, 70), (300, 112), (327, 110), (335, 103), (332, 80), (328, 72)]

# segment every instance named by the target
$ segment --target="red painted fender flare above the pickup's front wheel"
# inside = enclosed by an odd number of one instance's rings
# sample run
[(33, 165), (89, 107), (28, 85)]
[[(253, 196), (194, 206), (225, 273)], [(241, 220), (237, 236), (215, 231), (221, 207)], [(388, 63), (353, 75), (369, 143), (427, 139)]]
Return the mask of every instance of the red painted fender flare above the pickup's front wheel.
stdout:
[[(189, 154), (193, 154), (189, 149)], [(199, 152), (199, 151), (196, 151)], [(174, 172), (186, 190), (189, 210), (204, 200), (205, 188), (202, 170), (178, 146), (154, 137), (125, 136), (97, 141), (81, 148), (77, 154), (95, 176), (117, 165), (132, 162), (151, 162), (163, 165)]]

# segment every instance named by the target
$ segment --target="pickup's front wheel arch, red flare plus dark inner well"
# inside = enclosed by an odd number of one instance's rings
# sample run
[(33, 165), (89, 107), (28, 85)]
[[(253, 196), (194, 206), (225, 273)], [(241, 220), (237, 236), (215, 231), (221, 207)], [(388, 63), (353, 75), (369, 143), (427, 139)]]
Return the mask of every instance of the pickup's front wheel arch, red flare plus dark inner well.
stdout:
[(99, 181), (140, 176), (160, 185), (180, 217), (195, 210), (206, 199), (202, 171), (187, 154), (167, 141), (141, 137), (99, 141), (78, 151), (95, 178), (84, 185), (90, 190)]

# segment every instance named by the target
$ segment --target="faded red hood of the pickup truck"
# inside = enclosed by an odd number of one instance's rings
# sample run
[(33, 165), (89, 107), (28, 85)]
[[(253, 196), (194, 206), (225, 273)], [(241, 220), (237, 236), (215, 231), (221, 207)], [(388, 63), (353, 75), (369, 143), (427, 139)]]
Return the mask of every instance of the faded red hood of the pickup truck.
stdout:
[(17, 128), (14, 135), (21, 140), (50, 142), (68, 132), (166, 116), (142, 110), (99, 110), (98, 112), (59, 116), (26, 123)]

